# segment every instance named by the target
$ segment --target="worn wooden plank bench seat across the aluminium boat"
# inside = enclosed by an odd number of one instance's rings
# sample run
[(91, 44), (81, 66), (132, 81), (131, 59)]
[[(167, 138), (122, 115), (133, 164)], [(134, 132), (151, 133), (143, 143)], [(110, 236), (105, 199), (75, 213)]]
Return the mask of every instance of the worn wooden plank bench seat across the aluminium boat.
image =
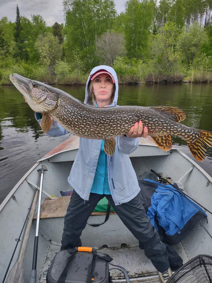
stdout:
[[(70, 202), (70, 196), (55, 197), (54, 200), (51, 200), (48, 197), (46, 197), (43, 203), (41, 204), (40, 219), (63, 218), (66, 214), (69, 202)], [(116, 213), (114, 211), (111, 211), (110, 214), (116, 214)], [(106, 215), (106, 211), (93, 212), (91, 216), (94, 215)], [(35, 214), (33, 219), (36, 218), (37, 218), (37, 213)]]

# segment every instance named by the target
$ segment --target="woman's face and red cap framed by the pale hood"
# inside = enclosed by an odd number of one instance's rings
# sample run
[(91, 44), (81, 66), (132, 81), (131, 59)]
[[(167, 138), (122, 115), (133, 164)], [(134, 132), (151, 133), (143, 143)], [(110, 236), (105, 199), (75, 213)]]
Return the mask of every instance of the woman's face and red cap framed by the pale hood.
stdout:
[(108, 74), (100, 74), (93, 80), (93, 92), (95, 95), (96, 103), (111, 103), (111, 96), (114, 92), (114, 83), (111, 76)]

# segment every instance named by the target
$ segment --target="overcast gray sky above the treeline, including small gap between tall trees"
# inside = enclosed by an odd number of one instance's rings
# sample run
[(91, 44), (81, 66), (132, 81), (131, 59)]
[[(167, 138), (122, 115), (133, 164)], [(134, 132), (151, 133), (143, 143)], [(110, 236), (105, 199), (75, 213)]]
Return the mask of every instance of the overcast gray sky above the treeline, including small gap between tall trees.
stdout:
[[(126, 0), (114, 0), (118, 13), (124, 11)], [(31, 19), (31, 15), (40, 14), (47, 25), (64, 22), (62, 0), (0, 0), (0, 19), (4, 16), (12, 22), (16, 18), (18, 4), (20, 15)]]

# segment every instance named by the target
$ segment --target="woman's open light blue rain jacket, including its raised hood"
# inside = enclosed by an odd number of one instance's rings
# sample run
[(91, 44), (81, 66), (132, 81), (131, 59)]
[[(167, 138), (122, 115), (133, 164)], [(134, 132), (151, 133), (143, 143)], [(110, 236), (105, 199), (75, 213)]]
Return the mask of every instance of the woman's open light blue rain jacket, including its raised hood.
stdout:
[[(118, 78), (114, 69), (105, 65), (92, 69), (85, 88), (84, 103), (91, 105), (91, 101), (88, 98), (88, 83), (91, 76), (101, 69), (110, 72), (115, 79), (115, 96), (112, 105), (108, 107), (116, 106)], [(41, 120), (38, 119), (37, 113), (35, 113), (35, 118), (40, 124)], [(49, 136), (62, 136), (67, 133), (67, 130), (55, 122), (55, 126), (52, 125), (47, 134)], [(119, 136), (115, 138), (115, 141), (115, 153), (111, 157), (108, 156), (108, 183), (114, 203), (118, 205), (130, 201), (140, 191), (137, 177), (128, 155), (138, 147), (138, 139)], [(102, 140), (80, 138), (79, 150), (68, 177), (68, 183), (84, 200), (89, 199), (101, 144)]]

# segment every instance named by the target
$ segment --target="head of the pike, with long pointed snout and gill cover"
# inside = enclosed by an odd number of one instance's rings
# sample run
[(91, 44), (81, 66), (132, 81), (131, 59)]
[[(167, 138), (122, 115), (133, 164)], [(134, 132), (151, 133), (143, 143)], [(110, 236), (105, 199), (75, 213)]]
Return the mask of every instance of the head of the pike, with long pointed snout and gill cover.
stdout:
[(35, 112), (49, 113), (57, 108), (59, 95), (53, 87), (15, 73), (10, 75), (10, 80)]

